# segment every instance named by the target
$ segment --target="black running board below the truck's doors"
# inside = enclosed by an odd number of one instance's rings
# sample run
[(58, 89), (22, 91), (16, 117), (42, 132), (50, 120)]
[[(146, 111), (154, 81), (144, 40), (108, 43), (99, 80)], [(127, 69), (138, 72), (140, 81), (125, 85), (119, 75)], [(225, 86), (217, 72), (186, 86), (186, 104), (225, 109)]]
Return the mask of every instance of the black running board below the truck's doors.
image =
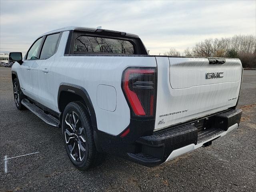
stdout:
[(58, 128), (60, 127), (59, 120), (57, 120), (56, 118), (54, 118), (53, 116), (51, 116), (49, 114), (46, 114), (42, 109), (40, 109), (38, 106), (30, 103), (27, 99), (22, 99), (21, 103), (26, 108), (28, 108), (32, 113), (34, 113), (36, 116), (38, 116), (44, 122), (46, 122), (48, 125), (58, 127)]

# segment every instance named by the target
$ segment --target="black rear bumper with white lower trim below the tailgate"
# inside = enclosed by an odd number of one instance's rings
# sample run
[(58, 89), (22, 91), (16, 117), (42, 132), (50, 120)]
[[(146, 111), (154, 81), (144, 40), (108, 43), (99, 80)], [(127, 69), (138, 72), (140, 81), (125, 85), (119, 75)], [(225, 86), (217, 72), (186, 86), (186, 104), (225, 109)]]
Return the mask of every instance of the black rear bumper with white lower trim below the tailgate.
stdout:
[(209, 146), (213, 140), (239, 126), (242, 110), (230, 109), (188, 124), (154, 132), (140, 137), (137, 153), (127, 153), (130, 160), (145, 166), (156, 166), (177, 156)]

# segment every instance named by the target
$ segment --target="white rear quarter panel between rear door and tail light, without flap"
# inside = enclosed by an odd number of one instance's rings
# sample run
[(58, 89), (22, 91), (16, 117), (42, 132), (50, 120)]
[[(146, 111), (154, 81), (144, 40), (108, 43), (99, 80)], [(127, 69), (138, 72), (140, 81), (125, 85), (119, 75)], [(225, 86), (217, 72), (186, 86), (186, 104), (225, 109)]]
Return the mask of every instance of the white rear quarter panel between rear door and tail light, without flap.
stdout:
[[(120, 134), (130, 123), (130, 108), (121, 88), (122, 72), (129, 66), (156, 67), (154, 57), (136, 56), (64, 56), (68, 33), (62, 34), (56, 58), (51, 66), (50, 88), (58, 110), (58, 88), (61, 83), (75, 84), (88, 92), (95, 110), (98, 130), (112, 135)], [(97, 104), (97, 87), (100, 84), (116, 89), (116, 110), (101, 109)], [(114, 98), (113, 98), (114, 99)], [(113, 102), (113, 101), (110, 101)]]

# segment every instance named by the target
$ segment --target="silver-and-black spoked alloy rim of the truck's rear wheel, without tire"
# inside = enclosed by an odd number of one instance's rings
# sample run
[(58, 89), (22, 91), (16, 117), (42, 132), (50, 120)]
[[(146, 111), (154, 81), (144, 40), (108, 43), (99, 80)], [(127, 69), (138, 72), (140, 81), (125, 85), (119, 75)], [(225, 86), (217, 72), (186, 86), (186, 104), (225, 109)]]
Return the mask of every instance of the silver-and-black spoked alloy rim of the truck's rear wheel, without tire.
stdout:
[(84, 125), (78, 114), (74, 111), (67, 113), (65, 123), (67, 126), (64, 135), (70, 156), (76, 162), (82, 162), (86, 155), (86, 136)]

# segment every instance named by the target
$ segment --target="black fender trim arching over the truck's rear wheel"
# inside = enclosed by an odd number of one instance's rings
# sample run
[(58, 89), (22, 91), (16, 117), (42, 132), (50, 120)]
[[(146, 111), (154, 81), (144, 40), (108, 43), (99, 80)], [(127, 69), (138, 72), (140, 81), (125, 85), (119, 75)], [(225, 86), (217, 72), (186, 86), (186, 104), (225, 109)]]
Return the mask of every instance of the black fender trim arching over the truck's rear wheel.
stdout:
[[(59, 106), (59, 99), (60, 99), (60, 93), (62, 91), (67, 91), (70, 93), (74, 93), (80, 97), (82, 97), (84, 99), (84, 102), (88, 108), (88, 112), (90, 114), (90, 118), (92, 121), (92, 126), (93, 128), (97, 129), (97, 121), (96, 121), (96, 114), (94, 111), (94, 107), (92, 105), (92, 101), (90, 99), (90, 96), (88, 94), (88, 92), (85, 90), (85, 88), (75, 85), (75, 84), (69, 84), (69, 83), (61, 83), (60, 87), (59, 87), (59, 91), (58, 91), (58, 109), (60, 110), (60, 106)], [(60, 112), (62, 112), (60, 110)]]

